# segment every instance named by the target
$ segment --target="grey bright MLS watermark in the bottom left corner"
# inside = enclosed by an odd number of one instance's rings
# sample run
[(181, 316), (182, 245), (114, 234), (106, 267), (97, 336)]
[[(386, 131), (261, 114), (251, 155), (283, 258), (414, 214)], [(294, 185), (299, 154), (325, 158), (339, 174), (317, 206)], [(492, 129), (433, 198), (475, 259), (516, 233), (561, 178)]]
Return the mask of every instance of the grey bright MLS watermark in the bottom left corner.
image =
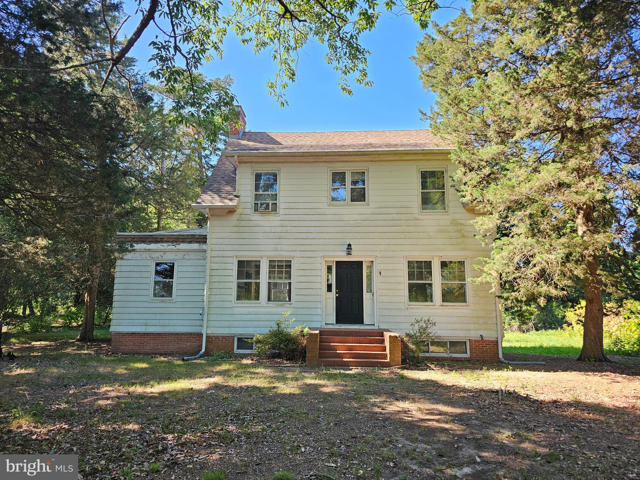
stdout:
[(0, 455), (0, 479), (77, 480), (77, 455)]

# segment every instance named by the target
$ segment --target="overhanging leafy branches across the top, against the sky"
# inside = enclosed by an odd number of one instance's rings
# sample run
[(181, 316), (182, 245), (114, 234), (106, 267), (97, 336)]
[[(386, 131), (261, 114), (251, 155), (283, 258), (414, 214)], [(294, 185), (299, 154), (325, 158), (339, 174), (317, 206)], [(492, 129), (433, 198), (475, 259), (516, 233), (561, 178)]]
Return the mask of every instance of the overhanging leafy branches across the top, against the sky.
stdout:
[[(215, 56), (221, 57), (222, 44), (229, 31), (239, 36), (255, 52), (270, 51), (278, 72), (267, 87), (280, 104), (286, 104), (284, 89), (296, 80), (298, 54), (309, 42), (326, 45), (324, 56), (340, 74), (342, 92), (351, 95), (349, 78), (357, 84), (372, 85), (367, 74), (369, 51), (360, 44), (362, 33), (376, 26), (382, 12), (398, 10), (409, 13), (421, 28), (426, 28), (431, 13), (438, 8), (435, 0), (385, 0), (382, 6), (369, 0), (231, 0), (227, 15), (221, 15), (221, 3), (214, 0), (136, 0), (140, 19), (131, 35), (122, 38), (122, 28), (130, 17), (122, 15), (119, 1), (101, 1), (99, 10), (86, 0), (10, 0), (10, 6), (0, 8), (0, 19), (12, 20), (12, 6), (33, 4), (41, 13), (65, 11), (69, 4), (84, 4), (88, 12), (101, 17), (100, 33), (106, 37), (107, 48), (82, 48), (75, 45), (76, 56), (61, 58), (57, 65), (37, 67), (40, 72), (69, 72), (77, 68), (104, 65), (102, 88), (113, 74), (126, 77), (120, 65), (145, 31), (156, 29), (150, 42), (154, 50), (150, 60), (150, 76), (168, 88), (179, 85), (184, 70), (192, 77), (198, 68)], [(58, 18), (55, 12), (51, 18)], [(93, 14), (92, 13), (92, 14)], [(46, 17), (46, 14), (44, 15)], [(0, 70), (33, 70), (33, 65), (0, 65)], [(191, 103), (200, 115), (207, 112), (206, 97), (198, 96), (198, 86), (192, 82)], [(178, 115), (180, 117), (180, 115)], [(228, 122), (227, 122), (228, 124)], [(204, 131), (204, 134), (208, 133)]]

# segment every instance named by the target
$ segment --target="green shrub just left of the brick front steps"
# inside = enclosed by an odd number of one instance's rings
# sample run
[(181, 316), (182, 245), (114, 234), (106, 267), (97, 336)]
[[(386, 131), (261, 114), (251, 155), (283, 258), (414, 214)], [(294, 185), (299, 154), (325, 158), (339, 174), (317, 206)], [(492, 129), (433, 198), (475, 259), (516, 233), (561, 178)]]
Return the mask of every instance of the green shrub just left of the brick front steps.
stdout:
[(282, 317), (276, 321), (275, 328), (271, 328), (264, 335), (255, 335), (255, 355), (262, 358), (282, 358), (282, 360), (301, 361), (307, 356), (307, 332), (304, 324), (291, 328), (296, 321), (287, 317), (291, 312), (282, 312)]

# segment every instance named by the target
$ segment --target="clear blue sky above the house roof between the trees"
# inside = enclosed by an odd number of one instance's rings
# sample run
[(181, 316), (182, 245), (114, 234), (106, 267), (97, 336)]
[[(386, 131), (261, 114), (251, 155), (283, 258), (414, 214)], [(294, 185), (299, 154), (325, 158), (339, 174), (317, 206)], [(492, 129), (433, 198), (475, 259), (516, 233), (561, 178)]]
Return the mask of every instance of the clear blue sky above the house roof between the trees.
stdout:
[[(454, 6), (467, 4), (458, 0)], [(129, 10), (127, 13), (134, 13)], [(434, 19), (442, 23), (457, 13), (440, 10)], [(129, 28), (134, 28), (136, 20), (129, 20)], [(147, 30), (131, 51), (142, 69), (150, 56), (148, 43), (156, 35), (153, 24)], [(298, 81), (287, 88), (289, 106), (284, 108), (269, 96), (265, 86), (276, 72), (268, 53), (253, 54), (234, 35), (225, 41), (222, 60), (205, 65), (202, 72), (209, 77), (232, 76), (233, 92), (247, 116), (247, 129), (253, 131), (421, 129), (428, 125), (420, 120), (418, 109), (428, 109), (433, 95), (422, 90), (418, 69), (409, 57), (415, 54), (423, 34), (410, 16), (383, 13), (378, 28), (362, 37), (362, 44), (371, 51), (369, 76), (374, 86), (365, 88), (352, 82), (353, 97), (340, 92), (339, 75), (326, 64), (324, 47), (317, 43), (301, 52)]]

